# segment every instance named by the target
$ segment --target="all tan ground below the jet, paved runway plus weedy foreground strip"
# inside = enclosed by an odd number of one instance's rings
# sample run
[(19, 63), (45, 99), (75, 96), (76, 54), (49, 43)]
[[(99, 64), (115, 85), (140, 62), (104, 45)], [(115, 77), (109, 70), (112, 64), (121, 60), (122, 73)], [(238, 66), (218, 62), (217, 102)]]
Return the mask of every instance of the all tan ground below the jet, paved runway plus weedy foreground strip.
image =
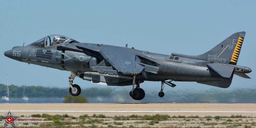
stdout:
[[(115, 103), (81, 103), (81, 104), (0, 104), (0, 115), (8, 111), (15, 116), (40, 114), (42, 123), (17, 123), (15, 127), (223, 127), (223, 128), (256, 128), (256, 104), (221, 104), (221, 103), (148, 103), (148, 104), (115, 104)], [(57, 115), (60, 119), (42, 118), (42, 114)], [(68, 115), (68, 117), (62, 117)], [(79, 117), (87, 115), (86, 117)], [(94, 116), (93, 116), (94, 115)], [(96, 118), (95, 115), (104, 115)], [(132, 115), (135, 117), (132, 117)], [(148, 119), (142, 117), (167, 115), (168, 118)], [(215, 116), (220, 116), (215, 118)], [(4, 120), (3, 120), (4, 121)], [(2, 121), (1, 121), (2, 122)], [(4, 127), (0, 123), (0, 127)]]

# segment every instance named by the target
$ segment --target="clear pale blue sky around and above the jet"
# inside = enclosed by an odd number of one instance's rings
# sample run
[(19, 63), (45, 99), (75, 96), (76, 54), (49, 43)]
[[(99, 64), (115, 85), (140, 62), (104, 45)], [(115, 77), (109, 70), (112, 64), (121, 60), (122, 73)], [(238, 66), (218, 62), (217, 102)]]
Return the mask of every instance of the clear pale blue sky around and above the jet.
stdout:
[[(42, 37), (60, 34), (83, 43), (134, 47), (168, 54), (199, 55), (228, 36), (245, 31), (237, 65), (250, 67), (252, 79), (234, 76), (234, 88), (255, 88), (256, 1), (1, 1), (0, 83), (69, 87), (70, 72), (28, 65), (4, 56), (13, 46), (31, 44)], [(106, 87), (76, 77), (82, 88)], [(173, 82), (179, 91), (216, 87), (196, 82)], [(110, 87), (123, 88), (123, 87)], [(126, 87), (127, 93), (132, 89)], [(145, 92), (161, 89), (160, 82), (141, 84)], [(220, 88), (221, 89), (221, 88)], [(221, 89), (223, 90), (223, 89)]]

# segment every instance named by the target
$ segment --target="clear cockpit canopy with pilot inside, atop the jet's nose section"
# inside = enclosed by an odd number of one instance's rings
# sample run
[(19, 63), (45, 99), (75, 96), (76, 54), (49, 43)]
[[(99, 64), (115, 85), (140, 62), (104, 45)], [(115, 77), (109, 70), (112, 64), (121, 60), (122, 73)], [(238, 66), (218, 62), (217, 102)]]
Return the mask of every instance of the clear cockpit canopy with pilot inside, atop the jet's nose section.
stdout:
[(30, 46), (50, 47), (58, 44), (68, 44), (68, 43), (77, 43), (77, 41), (67, 36), (50, 35), (30, 44)]

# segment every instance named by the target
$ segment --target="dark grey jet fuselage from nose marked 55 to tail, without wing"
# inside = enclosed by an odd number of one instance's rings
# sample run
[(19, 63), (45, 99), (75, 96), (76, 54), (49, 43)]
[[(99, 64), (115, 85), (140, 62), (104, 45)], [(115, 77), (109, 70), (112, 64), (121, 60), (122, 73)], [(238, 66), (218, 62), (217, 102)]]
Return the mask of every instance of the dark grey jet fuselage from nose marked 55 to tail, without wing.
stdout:
[[(97, 44), (91, 45), (93, 46)], [(189, 59), (172, 55), (163, 55), (124, 47), (118, 48), (145, 55), (152, 61), (160, 64), (158, 66), (158, 74), (149, 75), (148, 81), (160, 81), (168, 79), (172, 79), (174, 81), (209, 81), (222, 78), (219, 74), (214, 73), (207, 67), (206, 64), (211, 63), (211, 61)], [(88, 59), (91, 57), (90, 55), (73, 51), (65, 51), (65, 53), (61, 53), (57, 50), (57, 46), (52, 46), (50, 48), (40, 48), (28, 45), (25, 47), (17, 47), (9, 50), (5, 52), (5, 55), (14, 60), (49, 68), (56, 68), (60, 70), (67, 70), (78, 73), (91, 71)], [(63, 65), (65, 68), (61, 68), (61, 66), (56, 65), (56, 62), (60, 60), (61, 56), (64, 57), (63, 60), (65, 60), (65, 62), (63, 62)], [(81, 58), (80, 56), (83, 58)], [(81, 59), (83, 61), (81, 61)], [(68, 65), (65, 65), (65, 63), (67, 63)]]

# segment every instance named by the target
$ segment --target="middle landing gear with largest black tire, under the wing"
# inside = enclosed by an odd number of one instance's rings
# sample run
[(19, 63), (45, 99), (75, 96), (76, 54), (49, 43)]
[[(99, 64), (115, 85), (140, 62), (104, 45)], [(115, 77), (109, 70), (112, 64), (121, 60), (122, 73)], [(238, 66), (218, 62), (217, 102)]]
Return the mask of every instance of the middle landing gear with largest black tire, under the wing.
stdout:
[(138, 81), (138, 84), (137, 84), (136, 88), (134, 88), (135, 77), (136, 76), (133, 76), (132, 91), (130, 92), (130, 96), (134, 100), (142, 100), (145, 97), (145, 92), (142, 88), (140, 88), (140, 80)]

